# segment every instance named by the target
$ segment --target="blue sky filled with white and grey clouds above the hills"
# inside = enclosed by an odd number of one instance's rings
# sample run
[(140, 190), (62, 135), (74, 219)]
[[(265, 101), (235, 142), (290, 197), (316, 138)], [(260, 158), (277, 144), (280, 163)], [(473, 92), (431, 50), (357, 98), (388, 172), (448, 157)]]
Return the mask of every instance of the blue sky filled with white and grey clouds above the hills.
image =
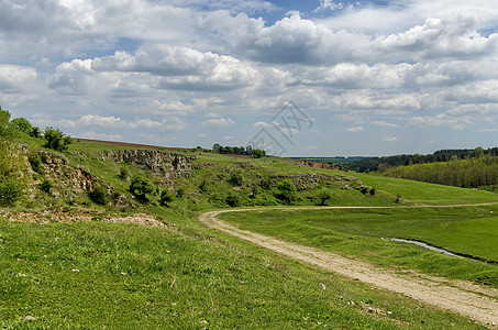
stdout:
[(493, 0), (0, 0), (0, 106), (283, 156), (497, 146)]

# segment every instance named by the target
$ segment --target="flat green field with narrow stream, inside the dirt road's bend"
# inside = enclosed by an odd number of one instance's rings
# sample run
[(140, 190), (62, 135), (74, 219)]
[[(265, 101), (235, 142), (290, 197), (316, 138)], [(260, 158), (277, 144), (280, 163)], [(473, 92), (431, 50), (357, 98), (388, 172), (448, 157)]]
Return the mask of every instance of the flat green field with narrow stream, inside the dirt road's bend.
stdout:
[(387, 267), (469, 279), (498, 287), (498, 264), (447, 256), (408, 243), (498, 262), (498, 206), (461, 208), (267, 210), (223, 213), (221, 219), (283, 240), (365, 258)]

